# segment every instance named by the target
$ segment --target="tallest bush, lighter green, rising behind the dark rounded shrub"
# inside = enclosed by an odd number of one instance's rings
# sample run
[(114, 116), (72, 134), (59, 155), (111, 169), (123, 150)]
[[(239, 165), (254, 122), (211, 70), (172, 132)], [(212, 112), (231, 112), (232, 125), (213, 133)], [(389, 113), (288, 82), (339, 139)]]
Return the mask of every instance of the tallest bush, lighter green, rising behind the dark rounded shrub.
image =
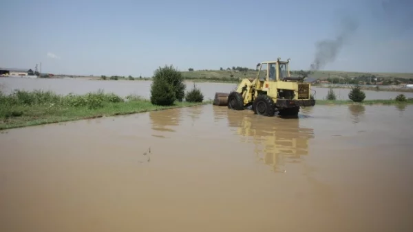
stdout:
[(169, 86), (171, 86), (173, 92), (175, 93), (175, 99), (179, 102), (182, 102), (185, 96), (186, 87), (184, 84), (184, 77), (182, 76), (182, 73), (174, 69), (172, 65), (165, 65), (165, 67), (159, 67), (153, 73), (153, 82), (162, 80), (165, 81)]

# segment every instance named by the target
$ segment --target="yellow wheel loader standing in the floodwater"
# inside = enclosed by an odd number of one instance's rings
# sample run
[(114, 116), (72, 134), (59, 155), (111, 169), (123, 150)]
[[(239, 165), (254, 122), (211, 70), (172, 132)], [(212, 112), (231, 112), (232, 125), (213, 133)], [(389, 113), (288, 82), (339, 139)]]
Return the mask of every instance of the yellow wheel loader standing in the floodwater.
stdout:
[(251, 108), (255, 114), (271, 117), (298, 115), (300, 106), (314, 106), (310, 83), (304, 77), (290, 76), (290, 59), (260, 62), (257, 77), (245, 78), (231, 93), (215, 93), (213, 104), (242, 111)]

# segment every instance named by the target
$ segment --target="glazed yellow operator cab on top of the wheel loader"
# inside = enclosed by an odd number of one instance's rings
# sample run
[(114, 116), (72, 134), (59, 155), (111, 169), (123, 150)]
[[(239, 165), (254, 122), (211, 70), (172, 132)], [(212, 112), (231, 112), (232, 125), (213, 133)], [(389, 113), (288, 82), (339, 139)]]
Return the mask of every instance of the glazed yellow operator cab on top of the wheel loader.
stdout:
[(277, 82), (280, 79), (290, 76), (290, 69), (288, 67), (290, 59), (281, 61), (279, 58), (276, 61), (261, 62), (257, 65), (258, 79), (260, 81)]

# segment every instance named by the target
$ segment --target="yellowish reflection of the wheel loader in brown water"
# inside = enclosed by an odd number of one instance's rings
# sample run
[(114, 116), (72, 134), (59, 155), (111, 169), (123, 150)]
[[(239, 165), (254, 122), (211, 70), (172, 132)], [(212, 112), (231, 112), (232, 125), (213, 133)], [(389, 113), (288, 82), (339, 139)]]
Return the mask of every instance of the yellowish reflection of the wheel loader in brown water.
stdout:
[(314, 132), (300, 128), (298, 119), (272, 120), (270, 124), (257, 115), (234, 112), (229, 111), (229, 126), (237, 127), (243, 142), (254, 143), (257, 158), (273, 166), (274, 172), (285, 172), (285, 163), (299, 163), (301, 156), (308, 154), (308, 139), (314, 137)]

